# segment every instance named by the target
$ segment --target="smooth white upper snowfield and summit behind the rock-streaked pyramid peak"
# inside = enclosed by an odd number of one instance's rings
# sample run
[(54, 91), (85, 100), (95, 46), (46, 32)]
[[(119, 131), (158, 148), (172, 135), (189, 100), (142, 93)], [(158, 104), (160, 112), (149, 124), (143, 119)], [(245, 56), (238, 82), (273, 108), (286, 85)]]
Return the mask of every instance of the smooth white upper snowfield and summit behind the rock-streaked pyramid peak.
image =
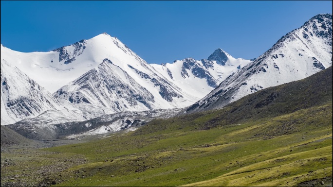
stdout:
[(96, 68), (105, 58), (123, 69), (128, 69), (128, 64), (134, 67), (141, 64), (135, 68), (143, 72), (151, 68), (116, 37), (106, 33), (49, 52), (19, 52), (1, 45), (1, 59), (51, 93)]

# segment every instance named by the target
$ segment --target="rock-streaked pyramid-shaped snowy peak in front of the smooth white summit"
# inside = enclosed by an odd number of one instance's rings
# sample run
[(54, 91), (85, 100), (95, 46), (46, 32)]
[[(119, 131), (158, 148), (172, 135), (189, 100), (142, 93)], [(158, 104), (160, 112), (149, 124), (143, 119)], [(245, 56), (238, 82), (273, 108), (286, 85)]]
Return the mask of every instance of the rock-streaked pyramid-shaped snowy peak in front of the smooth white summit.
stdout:
[[(63, 104), (86, 112), (86, 116), (93, 111), (97, 114), (109, 111), (107, 113), (110, 114), (148, 110), (151, 109), (149, 103), (154, 102), (154, 96), (145, 87), (137, 84), (126, 71), (109, 59), (104, 59), (97, 68), (63, 86), (54, 96)], [(89, 109), (86, 111), (87, 106)]]

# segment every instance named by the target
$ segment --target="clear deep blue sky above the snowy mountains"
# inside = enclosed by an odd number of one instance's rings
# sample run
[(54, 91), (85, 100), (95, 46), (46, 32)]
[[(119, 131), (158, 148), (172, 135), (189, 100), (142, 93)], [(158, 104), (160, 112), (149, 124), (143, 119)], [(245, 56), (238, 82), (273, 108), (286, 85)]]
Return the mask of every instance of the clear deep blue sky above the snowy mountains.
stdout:
[(332, 1), (3, 1), (1, 44), (51, 51), (101, 33), (148, 63), (207, 58), (217, 48), (252, 59)]

